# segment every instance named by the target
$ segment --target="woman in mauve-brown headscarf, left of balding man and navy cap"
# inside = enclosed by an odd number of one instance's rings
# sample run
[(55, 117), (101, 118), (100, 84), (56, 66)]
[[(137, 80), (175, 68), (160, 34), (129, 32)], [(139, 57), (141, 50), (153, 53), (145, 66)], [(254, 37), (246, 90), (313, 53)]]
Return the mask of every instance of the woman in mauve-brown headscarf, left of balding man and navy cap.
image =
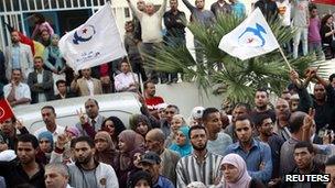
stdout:
[(129, 175), (139, 168), (134, 165), (138, 154), (144, 153), (144, 139), (132, 130), (125, 130), (119, 135), (119, 159), (117, 176), (120, 187), (127, 187)]

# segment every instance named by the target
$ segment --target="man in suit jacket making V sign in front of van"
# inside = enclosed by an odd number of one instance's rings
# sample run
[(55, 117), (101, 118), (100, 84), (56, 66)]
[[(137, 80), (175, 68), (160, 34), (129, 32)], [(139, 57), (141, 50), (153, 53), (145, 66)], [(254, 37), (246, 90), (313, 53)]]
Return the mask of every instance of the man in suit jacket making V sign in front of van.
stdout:
[(94, 139), (96, 132), (101, 130), (105, 117), (99, 114), (99, 103), (95, 99), (86, 100), (85, 110), (87, 117), (84, 115), (82, 109), (77, 112), (80, 122), (76, 124), (76, 128), (80, 131), (82, 135), (88, 135)]

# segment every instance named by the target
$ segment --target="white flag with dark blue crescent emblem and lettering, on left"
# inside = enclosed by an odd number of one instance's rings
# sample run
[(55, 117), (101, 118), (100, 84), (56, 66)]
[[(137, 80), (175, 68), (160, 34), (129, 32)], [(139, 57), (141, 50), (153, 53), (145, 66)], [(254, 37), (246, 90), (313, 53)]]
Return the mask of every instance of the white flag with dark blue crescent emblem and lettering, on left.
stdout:
[(106, 3), (83, 25), (66, 33), (58, 44), (63, 57), (75, 70), (127, 55), (110, 3)]

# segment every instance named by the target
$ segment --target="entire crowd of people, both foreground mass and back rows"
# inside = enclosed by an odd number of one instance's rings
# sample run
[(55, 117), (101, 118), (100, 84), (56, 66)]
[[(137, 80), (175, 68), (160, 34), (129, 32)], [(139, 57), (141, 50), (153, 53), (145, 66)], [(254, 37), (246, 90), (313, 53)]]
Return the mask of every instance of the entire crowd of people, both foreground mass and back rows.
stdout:
[[(218, 0), (210, 10), (204, 9), (204, 0), (196, 0), (195, 7), (182, 1), (192, 13), (191, 22), (208, 26), (219, 14), (246, 13), (238, 0)], [(177, 75), (145, 71), (143, 63), (152, 58), (142, 53), (154, 56), (156, 45), (185, 44), (185, 13), (177, 9), (177, 0), (170, 0), (168, 12), (168, 0), (158, 11), (151, 2), (128, 2), (134, 14), (134, 20), (126, 23), (129, 62), (125, 58), (82, 69), (80, 76), (62, 58), (60, 36), (40, 14), (35, 15), (32, 37), (44, 45), (42, 56), (33, 56), (19, 31), (11, 32), (12, 44), (4, 56), (0, 53), (0, 76), (3, 98), (12, 107), (76, 96), (90, 98), (83, 101), (85, 112), (77, 111), (76, 124), (58, 124), (57, 107), (52, 106), (41, 109), (44, 124), (35, 132), (15, 117), (0, 122), (0, 187), (335, 187), (334, 74), (325, 80), (317, 68), (307, 68), (301, 81), (291, 70), (291, 84), (274, 103), (268, 90), (259, 88), (255, 106), (238, 102), (223, 109), (195, 107), (190, 117), (183, 117), (176, 104), (168, 104), (155, 95), (159, 80), (176, 82)], [(305, 0), (258, 0), (255, 7), (268, 19), (279, 16), (283, 26), (296, 27), (294, 58), (300, 41), (303, 55), (310, 48), (318, 56), (334, 56), (333, 15), (320, 21), (316, 8)], [(196, 38), (194, 44), (198, 45)], [(196, 52), (196, 60), (204, 60), (201, 52)], [(140, 80), (144, 80), (143, 93), (138, 95), (141, 114), (132, 114), (129, 122), (100, 114), (96, 95), (137, 92)], [(313, 93), (306, 90), (311, 80), (316, 81)], [(285, 175), (293, 174), (329, 174), (331, 180), (287, 181)]]

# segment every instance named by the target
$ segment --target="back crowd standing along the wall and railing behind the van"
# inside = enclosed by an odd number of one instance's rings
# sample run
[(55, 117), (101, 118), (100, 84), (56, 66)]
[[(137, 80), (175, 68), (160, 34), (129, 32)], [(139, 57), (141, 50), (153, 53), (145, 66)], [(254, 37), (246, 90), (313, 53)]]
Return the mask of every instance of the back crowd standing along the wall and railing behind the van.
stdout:
[[(158, 11), (152, 2), (138, 0), (134, 4), (131, 0), (127, 1), (134, 15), (132, 21), (125, 24), (123, 42), (128, 58), (83, 69), (78, 74), (62, 57), (60, 36), (42, 14), (32, 16), (35, 26), (31, 38), (35, 41), (31, 43), (26, 42), (29, 37), (12, 29), (11, 45), (4, 53), (0, 51), (0, 84), (8, 84), (3, 92), (10, 103), (15, 107), (74, 96), (137, 91), (140, 81), (145, 80), (154, 84), (177, 82), (177, 73), (158, 73), (144, 69), (143, 65), (152, 65), (156, 46), (186, 44), (186, 16), (179, 10), (179, 1), (170, 0), (170, 10), (166, 12), (168, 0), (163, 1)], [(210, 5), (210, 10), (205, 9), (204, 0), (196, 0), (195, 5), (188, 0), (182, 2), (191, 12), (191, 22), (208, 27), (215, 24), (219, 15), (246, 15), (246, 5), (238, 0), (230, 0), (230, 3), (218, 0)], [(302, 52), (302, 55), (315, 53), (320, 58), (334, 57), (335, 29), (332, 14), (318, 15), (315, 4), (307, 0), (258, 0), (252, 5), (260, 8), (268, 20), (279, 18), (277, 21), (282, 26), (296, 30), (292, 42), (284, 44), (288, 55), (293, 54), (293, 58), (296, 58)], [(196, 62), (204, 63), (205, 57), (196, 38), (194, 46)], [(18, 79), (19, 75), (22, 75), (22, 80)]]

